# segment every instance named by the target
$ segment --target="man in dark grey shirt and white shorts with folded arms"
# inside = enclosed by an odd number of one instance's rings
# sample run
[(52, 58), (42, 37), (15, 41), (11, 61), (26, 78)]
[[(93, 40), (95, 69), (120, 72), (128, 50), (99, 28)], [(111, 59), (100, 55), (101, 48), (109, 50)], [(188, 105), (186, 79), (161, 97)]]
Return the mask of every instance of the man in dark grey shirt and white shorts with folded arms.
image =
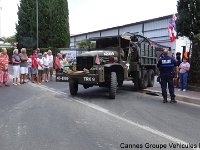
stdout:
[(19, 58), (21, 60), (20, 63), (20, 83), (26, 83), (27, 75), (28, 75), (28, 56), (26, 54), (26, 48), (21, 49), (21, 53), (19, 54)]

